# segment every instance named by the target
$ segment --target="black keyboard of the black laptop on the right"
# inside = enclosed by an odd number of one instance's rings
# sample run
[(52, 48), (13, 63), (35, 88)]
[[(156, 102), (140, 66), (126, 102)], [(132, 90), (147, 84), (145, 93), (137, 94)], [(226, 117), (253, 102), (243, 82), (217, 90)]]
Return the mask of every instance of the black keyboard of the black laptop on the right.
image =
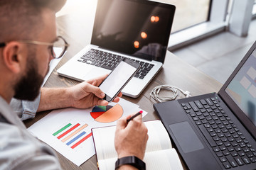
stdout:
[(206, 137), (225, 169), (256, 162), (255, 148), (215, 98), (181, 103), (181, 106)]

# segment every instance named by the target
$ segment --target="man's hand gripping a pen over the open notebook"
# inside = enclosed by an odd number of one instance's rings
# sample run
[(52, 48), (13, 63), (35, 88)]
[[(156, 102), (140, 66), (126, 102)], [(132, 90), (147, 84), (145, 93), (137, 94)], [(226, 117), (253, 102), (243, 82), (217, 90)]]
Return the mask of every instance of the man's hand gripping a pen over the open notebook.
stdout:
[(127, 119), (122, 118), (117, 121), (117, 130), (114, 136), (114, 147), (118, 157), (136, 156), (144, 158), (146, 142), (149, 139), (147, 128), (142, 122), (142, 115), (137, 116), (127, 124)]

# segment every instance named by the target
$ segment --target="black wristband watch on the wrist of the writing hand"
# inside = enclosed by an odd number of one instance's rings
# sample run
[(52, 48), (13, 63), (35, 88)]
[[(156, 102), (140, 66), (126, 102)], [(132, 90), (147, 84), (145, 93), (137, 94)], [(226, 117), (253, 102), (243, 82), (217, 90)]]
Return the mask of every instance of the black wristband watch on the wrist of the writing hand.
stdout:
[(146, 170), (146, 164), (141, 159), (135, 156), (122, 157), (117, 159), (115, 169), (118, 169), (119, 166), (122, 166), (124, 164), (129, 164), (139, 170)]

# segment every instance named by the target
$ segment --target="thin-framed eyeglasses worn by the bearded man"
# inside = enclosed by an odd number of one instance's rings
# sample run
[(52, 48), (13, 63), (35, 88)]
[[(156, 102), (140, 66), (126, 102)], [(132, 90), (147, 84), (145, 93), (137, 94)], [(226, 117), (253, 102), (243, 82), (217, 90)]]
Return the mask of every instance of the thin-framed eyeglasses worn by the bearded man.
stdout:
[[(48, 45), (51, 49), (51, 55), (54, 58), (63, 57), (66, 50), (68, 49), (68, 42), (61, 36), (58, 36), (55, 42), (40, 42), (34, 40), (17, 40), (18, 42), (26, 43), (26, 44), (34, 44), (34, 45)], [(1, 42), (0, 47), (4, 47), (8, 44), (8, 42)]]

